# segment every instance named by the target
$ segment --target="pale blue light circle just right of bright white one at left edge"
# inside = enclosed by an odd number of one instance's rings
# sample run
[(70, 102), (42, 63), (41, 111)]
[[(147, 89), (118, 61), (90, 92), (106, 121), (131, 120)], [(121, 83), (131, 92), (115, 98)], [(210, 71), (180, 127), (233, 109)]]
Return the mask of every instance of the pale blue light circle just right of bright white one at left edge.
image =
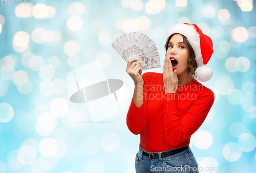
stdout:
[(32, 132), (35, 129), (36, 117), (31, 113), (24, 113), (18, 117), (18, 128), (23, 132)]

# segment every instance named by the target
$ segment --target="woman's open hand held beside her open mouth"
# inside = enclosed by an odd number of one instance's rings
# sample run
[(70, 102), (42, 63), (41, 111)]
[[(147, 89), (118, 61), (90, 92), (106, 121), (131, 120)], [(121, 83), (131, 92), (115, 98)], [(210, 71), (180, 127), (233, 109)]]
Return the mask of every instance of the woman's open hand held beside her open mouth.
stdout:
[(172, 62), (169, 58), (165, 57), (163, 65), (163, 83), (165, 94), (170, 92), (176, 92), (178, 89), (178, 77), (177, 70), (173, 71)]

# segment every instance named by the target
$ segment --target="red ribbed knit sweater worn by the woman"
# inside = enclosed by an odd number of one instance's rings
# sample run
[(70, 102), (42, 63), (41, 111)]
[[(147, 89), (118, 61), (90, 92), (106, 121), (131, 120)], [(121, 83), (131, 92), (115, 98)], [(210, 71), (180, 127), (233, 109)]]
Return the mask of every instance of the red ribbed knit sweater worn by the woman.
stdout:
[(143, 104), (133, 102), (126, 117), (129, 130), (140, 134), (147, 152), (163, 152), (186, 146), (214, 104), (214, 93), (195, 78), (165, 94), (163, 73), (143, 73)]

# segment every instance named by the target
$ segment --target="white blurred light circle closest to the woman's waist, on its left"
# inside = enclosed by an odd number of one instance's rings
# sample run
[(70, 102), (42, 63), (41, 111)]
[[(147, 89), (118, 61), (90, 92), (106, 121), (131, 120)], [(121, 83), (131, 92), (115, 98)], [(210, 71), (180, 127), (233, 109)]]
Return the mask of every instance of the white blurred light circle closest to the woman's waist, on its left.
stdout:
[(119, 137), (113, 133), (104, 133), (100, 138), (100, 144), (103, 150), (107, 152), (113, 152), (117, 150), (120, 144)]

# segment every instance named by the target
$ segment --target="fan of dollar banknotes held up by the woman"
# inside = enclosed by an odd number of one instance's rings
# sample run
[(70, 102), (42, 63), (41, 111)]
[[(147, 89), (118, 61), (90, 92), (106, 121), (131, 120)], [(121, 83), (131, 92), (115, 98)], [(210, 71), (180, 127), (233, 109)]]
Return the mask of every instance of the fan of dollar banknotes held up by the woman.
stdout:
[(155, 42), (145, 34), (133, 32), (118, 37), (112, 47), (126, 61), (138, 58), (142, 69), (161, 67), (158, 48)]

